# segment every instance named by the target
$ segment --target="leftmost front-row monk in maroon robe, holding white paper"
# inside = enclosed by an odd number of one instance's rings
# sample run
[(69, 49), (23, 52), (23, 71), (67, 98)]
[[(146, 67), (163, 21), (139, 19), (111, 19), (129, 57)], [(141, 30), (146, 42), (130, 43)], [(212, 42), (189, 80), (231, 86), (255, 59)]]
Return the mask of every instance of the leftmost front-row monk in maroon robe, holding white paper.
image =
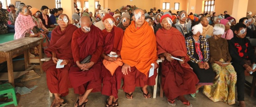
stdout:
[[(51, 57), (52, 60), (46, 61), (42, 68), (46, 72), (47, 86), (51, 93), (54, 94), (55, 99), (52, 102), (51, 107), (63, 105), (64, 97), (68, 95), (68, 88), (72, 88), (70, 85), (68, 71), (73, 62), (72, 50), (71, 50), (71, 40), (72, 34), (77, 29), (76, 26), (63, 21), (63, 17), (68, 16), (66, 14), (61, 14), (59, 16), (58, 24), (59, 26), (52, 31), (52, 38), (50, 41), (50, 46), (45, 49), (44, 52), (47, 57)], [(58, 59), (63, 60), (61, 65), (65, 65), (63, 68), (56, 68)]]

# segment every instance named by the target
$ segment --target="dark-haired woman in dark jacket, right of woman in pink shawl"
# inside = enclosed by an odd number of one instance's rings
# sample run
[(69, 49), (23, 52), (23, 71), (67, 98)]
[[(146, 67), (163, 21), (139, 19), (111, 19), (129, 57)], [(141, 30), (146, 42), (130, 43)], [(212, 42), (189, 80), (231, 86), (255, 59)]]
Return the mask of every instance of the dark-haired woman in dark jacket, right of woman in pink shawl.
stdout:
[(49, 31), (52, 31), (56, 25), (54, 25), (50, 22), (50, 17), (47, 14), (48, 10), (49, 10), (49, 8), (47, 6), (42, 6), (42, 8), (41, 8), (42, 13), (40, 14), (39, 18), (42, 20), (45, 28), (47, 28)]

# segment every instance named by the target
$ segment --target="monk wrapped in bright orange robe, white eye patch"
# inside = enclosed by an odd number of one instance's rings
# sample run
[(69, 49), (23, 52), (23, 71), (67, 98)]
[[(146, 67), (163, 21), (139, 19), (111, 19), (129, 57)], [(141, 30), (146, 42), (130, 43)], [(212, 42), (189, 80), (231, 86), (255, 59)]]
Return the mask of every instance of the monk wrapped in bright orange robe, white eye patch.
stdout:
[(148, 85), (156, 84), (156, 38), (153, 29), (145, 22), (142, 9), (134, 10), (133, 20), (123, 35), (122, 89), (126, 93), (126, 98), (132, 99), (135, 87), (141, 87), (144, 97), (150, 99), (151, 95), (146, 88)]

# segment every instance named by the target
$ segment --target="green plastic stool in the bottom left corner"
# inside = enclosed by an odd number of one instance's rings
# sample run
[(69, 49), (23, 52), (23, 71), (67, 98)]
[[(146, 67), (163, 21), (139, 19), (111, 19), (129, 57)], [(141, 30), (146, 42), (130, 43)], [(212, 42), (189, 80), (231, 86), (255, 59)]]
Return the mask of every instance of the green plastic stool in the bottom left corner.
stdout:
[(15, 89), (14, 89), (14, 87), (12, 87), (11, 84), (7, 83), (7, 84), (0, 85), (0, 98), (3, 98), (3, 97), (8, 97), (8, 99), (12, 98), (12, 101), (10, 101), (8, 103), (0, 102), (0, 107), (10, 105), (10, 104), (14, 104), (14, 106), (18, 105), (16, 94), (15, 94)]

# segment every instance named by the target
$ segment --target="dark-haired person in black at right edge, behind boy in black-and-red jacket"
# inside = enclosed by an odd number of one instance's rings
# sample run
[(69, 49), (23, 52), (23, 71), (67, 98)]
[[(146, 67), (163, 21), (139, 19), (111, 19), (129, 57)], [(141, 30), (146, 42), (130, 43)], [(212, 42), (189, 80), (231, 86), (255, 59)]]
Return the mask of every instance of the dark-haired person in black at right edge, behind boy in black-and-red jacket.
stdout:
[(250, 39), (255, 39), (256, 38), (256, 34), (249, 28), (249, 20), (248, 18), (241, 18), (239, 20), (239, 23), (243, 23), (246, 25), (247, 28), (247, 33), (246, 33), (246, 37), (249, 37)]

